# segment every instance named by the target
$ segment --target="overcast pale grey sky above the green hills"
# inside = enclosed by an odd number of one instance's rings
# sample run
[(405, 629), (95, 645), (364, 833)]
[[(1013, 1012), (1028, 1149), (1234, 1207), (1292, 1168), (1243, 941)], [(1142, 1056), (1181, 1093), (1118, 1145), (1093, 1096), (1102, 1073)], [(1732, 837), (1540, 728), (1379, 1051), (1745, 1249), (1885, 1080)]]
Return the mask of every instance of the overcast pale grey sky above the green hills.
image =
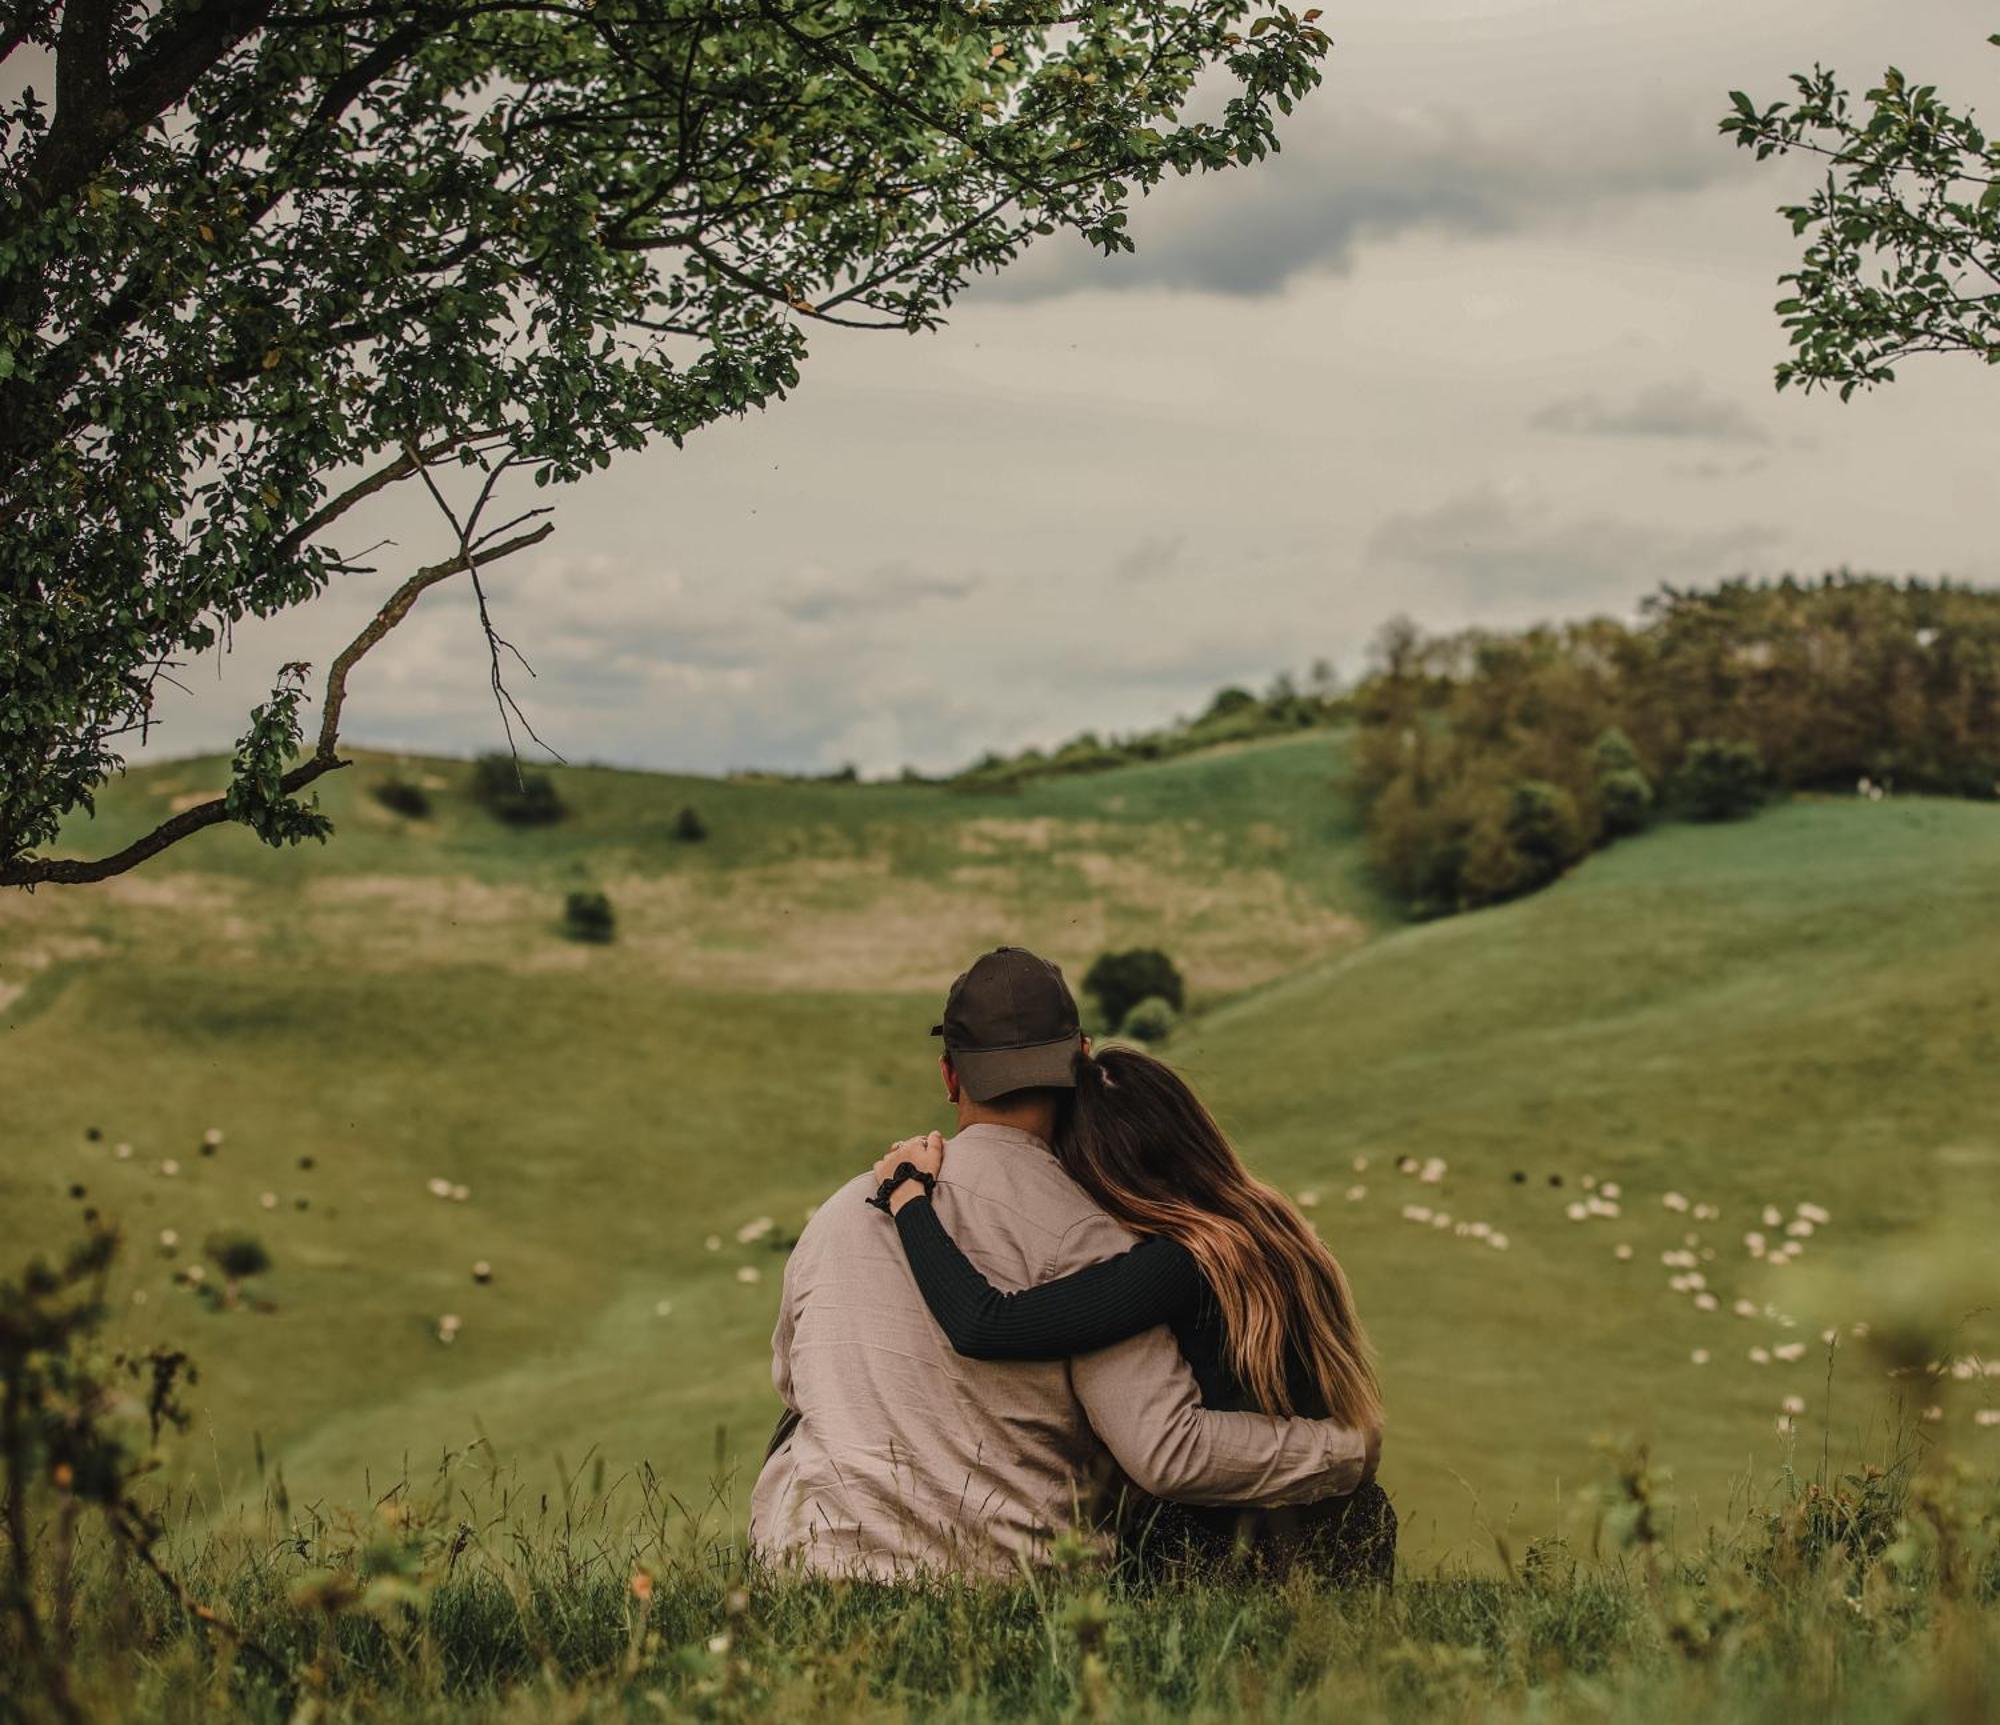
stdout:
[[(1326, 82), (1248, 170), (1174, 182), (1136, 256), (1058, 236), (950, 328), (814, 330), (800, 388), (560, 496), (488, 572), (570, 760), (864, 772), (1130, 730), (1428, 628), (1628, 616), (1660, 582), (1852, 566), (2000, 582), (2000, 378), (1776, 394), (1810, 182), (1728, 90), (1886, 64), (2000, 112), (1986, 0), (1328, 4)], [(546, 496), (534, 496), (534, 502)], [(152, 756), (226, 746), (440, 518), (184, 672)], [(346, 738), (498, 746), (462, 582), (354, 674)], [(144, 756), (136, 756), (144, 758)]]

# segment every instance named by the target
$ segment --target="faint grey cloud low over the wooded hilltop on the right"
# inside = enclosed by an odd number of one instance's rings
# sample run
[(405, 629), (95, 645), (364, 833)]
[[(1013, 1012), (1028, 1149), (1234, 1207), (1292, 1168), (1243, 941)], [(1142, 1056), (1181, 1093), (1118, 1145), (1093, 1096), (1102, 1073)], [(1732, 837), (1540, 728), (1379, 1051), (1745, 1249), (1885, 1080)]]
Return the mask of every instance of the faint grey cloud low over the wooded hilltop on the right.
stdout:
[(1734, 574), (1776, 538), (1758, 522), (1678, 528), (1562, 516), (1546, 502), (1488, 486), (1390, 516), (1368, 540), (1368, 554), (1434, 576), (1458, 600), (1494, 592), (1586, 604), (1632, 598), (1662, 580)]

